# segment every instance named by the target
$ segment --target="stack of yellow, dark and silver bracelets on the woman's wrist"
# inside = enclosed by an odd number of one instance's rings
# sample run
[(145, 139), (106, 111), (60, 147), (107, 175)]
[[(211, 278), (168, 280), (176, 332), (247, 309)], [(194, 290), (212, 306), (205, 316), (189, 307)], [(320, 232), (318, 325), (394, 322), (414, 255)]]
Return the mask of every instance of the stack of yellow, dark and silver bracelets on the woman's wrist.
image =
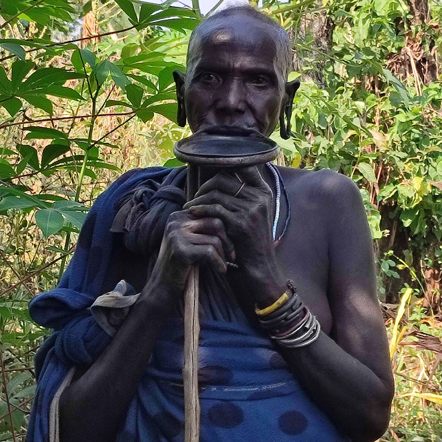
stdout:
[(321, 326), (316, 316), (299, 299), (294, 282), (287, 279), (288, 290), (272, 305), (255, 306), (259, 323), (270, 337), (284, 347), (305, 347), (316, 341)]

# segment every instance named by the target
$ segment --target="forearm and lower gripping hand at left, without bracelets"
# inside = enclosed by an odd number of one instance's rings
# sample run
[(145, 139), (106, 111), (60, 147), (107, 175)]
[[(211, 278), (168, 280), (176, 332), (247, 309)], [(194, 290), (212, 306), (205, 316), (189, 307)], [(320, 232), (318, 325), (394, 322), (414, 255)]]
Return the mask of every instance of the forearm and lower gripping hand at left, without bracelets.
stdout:
[(103, 353), (60, 396), (61, 442), (115, 441), (190, 267), (206, 262), (225, 272), (226, 256), (234, 252), (221, 220), (195, 220), (188, 210), (170, 215), (152, 276), (137, 302)]

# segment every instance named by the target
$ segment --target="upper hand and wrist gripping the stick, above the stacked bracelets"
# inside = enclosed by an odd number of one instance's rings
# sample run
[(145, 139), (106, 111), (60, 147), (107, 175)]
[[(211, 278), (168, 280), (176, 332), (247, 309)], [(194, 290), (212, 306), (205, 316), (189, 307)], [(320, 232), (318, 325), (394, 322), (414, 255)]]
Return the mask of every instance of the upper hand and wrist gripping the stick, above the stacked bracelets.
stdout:
[(258, 167), (250, 166), (218, 173), (184, 205), (194, 217), (223, 221), (235, 247), (238, 272), (246, 278), (258, 304), (265, 300), (271, 304), (285, 290), (272, 234), (274, 204), (272, 190)]

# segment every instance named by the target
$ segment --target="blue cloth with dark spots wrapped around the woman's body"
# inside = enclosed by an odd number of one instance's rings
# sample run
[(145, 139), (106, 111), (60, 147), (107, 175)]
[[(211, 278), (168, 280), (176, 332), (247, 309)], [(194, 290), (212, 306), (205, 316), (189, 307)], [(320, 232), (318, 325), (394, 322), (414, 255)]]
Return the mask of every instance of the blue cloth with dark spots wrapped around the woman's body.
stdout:
[[(165, 220), (182, 207), (173, 187), (182, 192), (184, 178), (183, 169), (158, 167), (120, 177), (89, 212), (60, 285), (30, 302), (34, 321), (54, 332), (35, 360), (38, 387), (28, 442), (48, 441), (50, 404), (69, 369), (92, 364), (110, 342), (89, 307), (124, 277), (119, 269), (125, 249), (150, 250), (155, 258)], [(143, 236), (146, 225), (154, 238)], [(225, 278), (210, 269), (201, 274), (200, 440), (348, 441), (312, 402), (268, 335), (249, 323)], [(117, 442), (184, 440), (183, 330), (178, 308), (154, 347)]]

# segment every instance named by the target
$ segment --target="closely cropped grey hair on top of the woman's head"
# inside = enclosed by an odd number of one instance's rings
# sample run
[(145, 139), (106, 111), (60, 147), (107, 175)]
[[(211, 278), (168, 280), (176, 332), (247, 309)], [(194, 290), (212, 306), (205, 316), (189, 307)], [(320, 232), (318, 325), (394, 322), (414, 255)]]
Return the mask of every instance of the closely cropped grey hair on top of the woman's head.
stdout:
[[(292, 50), (290, 37), (278, 23), (268, 15), (259, 12), (252, 6), (233, 6), (211, 15), (201, 22), (192, 32), (187, 53), (187, 71), (193, 70), (193, 65), (198, 57), (200, 44), (208, 38), (215, 38), (217, 41), (228, 44), (234, 37), (230, 29), (229, 18), (243, 16), (245, 19), (253, 20), (256, 26), (262, 28), (264, 33), (272, 33), (276, 45), (276, 64), (284, 77), (287, 78), (292, 65)], [(235, 31), (237, 29), (232, 29)]]

